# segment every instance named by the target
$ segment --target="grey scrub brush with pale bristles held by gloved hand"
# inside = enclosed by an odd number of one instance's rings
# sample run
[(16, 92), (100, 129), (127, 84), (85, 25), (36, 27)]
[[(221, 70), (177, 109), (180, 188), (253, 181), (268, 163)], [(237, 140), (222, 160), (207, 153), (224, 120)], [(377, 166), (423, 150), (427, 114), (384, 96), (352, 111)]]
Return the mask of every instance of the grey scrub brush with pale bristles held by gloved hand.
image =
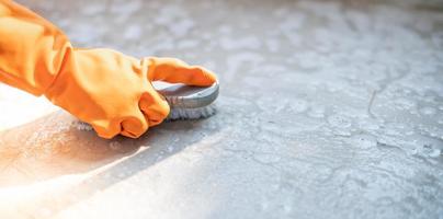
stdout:
[(167, 122), (206, 118), (216, 113), (214, 101), (218, 96), (218, 81), (211, 87), (171, 84), (159, 81), (152, 84), (171, 107)]

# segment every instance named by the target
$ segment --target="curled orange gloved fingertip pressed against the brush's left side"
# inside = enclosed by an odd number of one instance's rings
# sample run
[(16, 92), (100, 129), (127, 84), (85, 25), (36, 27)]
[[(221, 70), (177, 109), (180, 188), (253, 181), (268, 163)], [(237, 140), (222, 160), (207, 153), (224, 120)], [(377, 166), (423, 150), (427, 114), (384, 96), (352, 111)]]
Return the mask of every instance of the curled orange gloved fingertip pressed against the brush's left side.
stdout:
[(168, 102), (156, 91), (144, 93), (138, 105), (148, 119), (149, 126), (156, 126), (163, 122), (170, 112)]

